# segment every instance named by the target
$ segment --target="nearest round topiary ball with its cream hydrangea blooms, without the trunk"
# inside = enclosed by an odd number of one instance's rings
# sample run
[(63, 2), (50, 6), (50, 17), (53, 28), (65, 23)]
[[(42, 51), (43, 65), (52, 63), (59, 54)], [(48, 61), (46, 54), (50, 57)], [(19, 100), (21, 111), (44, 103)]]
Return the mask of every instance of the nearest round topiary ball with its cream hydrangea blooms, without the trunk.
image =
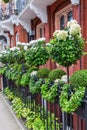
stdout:
[(75, 64), (83, 55), (84, 48), (80, 25), (73, 20), (65, 30), (56, 30), (53, 36), (49, 46), (51, 58), (65, 67)]

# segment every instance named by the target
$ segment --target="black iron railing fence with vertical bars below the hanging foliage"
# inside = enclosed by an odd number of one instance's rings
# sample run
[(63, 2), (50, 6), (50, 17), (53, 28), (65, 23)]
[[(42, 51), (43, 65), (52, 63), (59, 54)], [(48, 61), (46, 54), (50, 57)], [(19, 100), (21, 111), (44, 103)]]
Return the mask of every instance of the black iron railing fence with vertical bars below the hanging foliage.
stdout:
[[(46, 123), (46, 130), (59, 130), (58, 124), (62, 123), (60, 130), (87, 130), (87, 94), (82, 102), (81, 107), (72, 114), (61, 111), (59, 102), (47, 102), (40, 94), (32, 94), (29, 92), (29, 87), (17, 87), (12, 80), (8, 80), (3, 76), (3, 88), (9, 86), (11, 91), (14, 91), (16, 96), (20, 96), (23, 102), (32, 111), (37, 111), (39, 105), (40, 118)], [(54, 115), (54, 118), (52, 117)], [(50, 127), (50, 128), (49, 128)]]

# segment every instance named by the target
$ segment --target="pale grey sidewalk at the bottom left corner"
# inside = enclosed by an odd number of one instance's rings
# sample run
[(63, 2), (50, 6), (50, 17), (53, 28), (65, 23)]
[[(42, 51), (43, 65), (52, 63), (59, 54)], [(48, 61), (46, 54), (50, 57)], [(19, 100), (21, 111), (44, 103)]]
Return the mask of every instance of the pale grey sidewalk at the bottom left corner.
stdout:
[(12, 112), (2, 93), (0, 93), (0, 130), (26, 130)]

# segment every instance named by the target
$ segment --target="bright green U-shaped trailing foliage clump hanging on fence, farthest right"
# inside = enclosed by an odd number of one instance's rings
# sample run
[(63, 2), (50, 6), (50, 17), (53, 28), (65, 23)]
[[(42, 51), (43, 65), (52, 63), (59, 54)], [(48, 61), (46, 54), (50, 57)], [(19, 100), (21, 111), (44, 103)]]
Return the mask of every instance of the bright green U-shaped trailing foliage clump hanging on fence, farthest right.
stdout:
[(62, 111), (72, 113), (80, 105), (85, 94), (85, 87), (77, 87), (71, 90), (70, 84), (65, 84), (60, 95), (60, 107)]

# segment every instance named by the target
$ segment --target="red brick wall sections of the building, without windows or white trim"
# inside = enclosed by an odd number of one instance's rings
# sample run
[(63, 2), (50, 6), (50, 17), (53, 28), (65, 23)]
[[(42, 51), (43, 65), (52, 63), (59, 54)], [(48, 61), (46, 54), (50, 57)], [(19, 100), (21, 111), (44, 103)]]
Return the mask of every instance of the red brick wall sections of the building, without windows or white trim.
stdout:
[[(49, 39), (52, 38), (53, 32), (55, 31), (55, 13), (66, 7), (71, 3), (70, 0), (57, 0), (52, 5), (47, 7), (47, 16), (48, 16), (48, 22), (45, 23), (44, 31), (45, 31), (45, 37), (46, 41), (49, 42)], [(81, 6), (72, 6), (73, 7), (73, 18), (76, 19), (79, 24), (81, 24), (82, 27), (82, 35), (87, 40), (87, 1), (81, 0)], [(36, 31), (36, 26), (41, 24), (41, 20), (36, 17), (31, 20), (32, 30)], [(27, 32), (21, 25), (18, 27), (15, 27), (15, 35), (16, 33), (19, 33), (19, 41), (21, 42), (27, 42)], [(36, 36), (35, 36), (36, 38)], [(14, 36), (14, 45), (16, 44), (16, 37)], [(87, 51), (87, 42), (85, 42), (85, 51)], [(87, 56), (82, 58), (82, 69), (87, 68)], [(55, 62), (52, 62), (49, 60), (46, 64), (46, 67), (53, 69), (56, 68)], [(61, 68), (61, 67), (60, 67)], [(65, 68), (63, 68), (65, 70)], [(80, 61), (77, 62), (76, 65), (73, 65), (70, 67), (70, 74), (72, 74), (74, 71), (77, 71), (80, 69)]]

